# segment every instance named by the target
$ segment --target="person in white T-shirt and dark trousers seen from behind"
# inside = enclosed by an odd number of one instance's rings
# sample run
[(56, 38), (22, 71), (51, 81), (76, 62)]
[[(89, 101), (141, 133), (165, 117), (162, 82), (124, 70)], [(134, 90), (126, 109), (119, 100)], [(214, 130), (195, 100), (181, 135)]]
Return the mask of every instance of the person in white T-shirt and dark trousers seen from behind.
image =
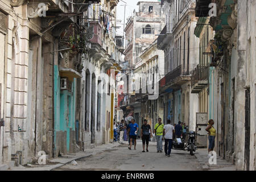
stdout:
[[(171, 120), (167, 120), (167, 125), (164, 125), (163, 137), (164, 137), (164, 152), (166, 156), (170, 157), (172, 149), (172, 139), (174, 137), (174, 126), (171, 125)], [(168, 148), (168, 151), (167, 151)]]

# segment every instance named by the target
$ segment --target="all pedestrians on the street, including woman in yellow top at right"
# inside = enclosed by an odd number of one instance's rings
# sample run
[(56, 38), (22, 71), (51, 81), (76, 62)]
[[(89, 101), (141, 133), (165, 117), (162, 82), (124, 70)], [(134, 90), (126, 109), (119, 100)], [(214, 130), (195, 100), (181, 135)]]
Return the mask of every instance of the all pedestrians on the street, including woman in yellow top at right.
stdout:
[[(216, 129), (213, 127), (214, 121), (212, 119), (208, 122), (208, 127), (205, 129), (208, 131), (209, 136), (209, 148), (208, 151), (213, 151), (214, 148), (214, 140), (216, 135)], [(114, 124), (115, 125), (115, 124)], [(119, 142), (123, 144), (123, 137), (125, 135), (125, 131), (127, 132), (126, 135), (128, 136), (129, 141), (129, 150), (131, 150), (131, 146), (134, 145), (134, 150), (136, 150), (136, 144), (137, 144), (137, 133), (139, 130), (139, 125), (135, 122), (135, 119), (131, 119), (129, 123), (125, 123), (125, 121), (122, 119), (121, 123), (117, 123), (117, 127), (114, 126), (114, 140), (116, 141), (117, 138), (119, 138)], [(118, 131), (119, 131), (119, 137), (118, 137)], [(171, 120), (167, 120), (167, 124), (164, 125), (162, 123), (162, 119), (158, 118), (158, 123), (156, 123), (154, 127), (154, 132), (151, 131), (151, 126), (148, 125), (147, 119), (144, 119), (143, 125), (141, 126), (141, 139), (142, 139), (142, 152), (148, 152), (148, 144), (150, 141), (150, 138), (152, 138), (155, 135), (156, 139), (156, 152), (163, 152), (163, 140), (164, 140), (164, 152), (166, 156), (170, 157), (171, 154), (171, 148), (172, 148), (172, 141), (175, 138), (183, 138), (183, 140), (186, 139), (187, 135), (187, 126), (185, 123), (178, 122), (178, 124), (171, 125)], [(145, 151), (146, 146), (146, 151)], [(210, 156), (210, 153), (209, 153)]]

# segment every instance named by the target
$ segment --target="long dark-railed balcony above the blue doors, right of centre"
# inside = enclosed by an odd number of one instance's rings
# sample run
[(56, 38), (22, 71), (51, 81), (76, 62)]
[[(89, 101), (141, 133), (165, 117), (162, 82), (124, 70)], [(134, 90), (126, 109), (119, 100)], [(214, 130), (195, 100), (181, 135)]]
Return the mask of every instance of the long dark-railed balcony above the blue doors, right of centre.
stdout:
[(168, 73), (165, 78), (160, 80), (160, 84), (163, 85), (163, 82), (165, 82), (165, 86), (171, 86), (171, 88), (175, 89), (190, 81), (191, 75), (189, 75), (188, 71), (184, 71), (182, 67), (182, 65), (179, 65), (174, 71)]

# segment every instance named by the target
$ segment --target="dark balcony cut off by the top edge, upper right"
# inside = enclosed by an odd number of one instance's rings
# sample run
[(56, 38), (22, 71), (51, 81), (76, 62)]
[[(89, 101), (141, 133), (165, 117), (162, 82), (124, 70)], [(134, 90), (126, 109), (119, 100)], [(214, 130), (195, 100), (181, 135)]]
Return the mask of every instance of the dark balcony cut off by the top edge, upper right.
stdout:
[(196, 0), (196, 17), (209, 16), (210, 3), (212, 3), (212, 0)]

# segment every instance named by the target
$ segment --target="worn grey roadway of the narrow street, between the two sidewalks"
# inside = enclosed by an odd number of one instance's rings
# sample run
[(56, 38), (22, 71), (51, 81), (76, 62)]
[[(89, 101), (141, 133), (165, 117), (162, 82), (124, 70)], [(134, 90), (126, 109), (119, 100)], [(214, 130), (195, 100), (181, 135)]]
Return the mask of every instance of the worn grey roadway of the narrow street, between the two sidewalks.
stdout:
[[(164, 142), (163, 142), (164, 143)], [(156, 153), (156, 142), (150, 142), (149, 152), (142, 152), (142, 142), (138, 140), (137, 150), (129, 150), (127, 142), (121, 146), (92, 155), (88, 158), (76, 160), (77, 166), (71, 163), (57, 168), (56, 171), (70, 170), (125, 170), (125, 171), (185, 171), (200, 170), (196, 156), (187, 151), (172, 150), (168, 158), (163, 153)], [(133, 147), (132, 147), (133, 148)]]

